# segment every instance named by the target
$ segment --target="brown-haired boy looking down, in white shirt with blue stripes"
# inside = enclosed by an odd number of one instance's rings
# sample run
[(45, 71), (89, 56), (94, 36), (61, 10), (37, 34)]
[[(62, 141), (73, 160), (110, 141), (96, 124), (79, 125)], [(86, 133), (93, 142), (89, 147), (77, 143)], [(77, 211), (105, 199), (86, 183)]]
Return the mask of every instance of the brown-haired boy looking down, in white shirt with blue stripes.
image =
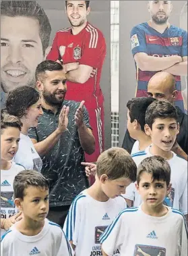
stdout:
[[(114, 147), (98, 157), (94, 184), (75, 197), (63, 226), (76, 256), (102, 255), (99, 237), (127, 206), (120, 195), (135, 180), (136, 171), (125, 149)], [(119, 256), (119, 250), (113, 255)]]

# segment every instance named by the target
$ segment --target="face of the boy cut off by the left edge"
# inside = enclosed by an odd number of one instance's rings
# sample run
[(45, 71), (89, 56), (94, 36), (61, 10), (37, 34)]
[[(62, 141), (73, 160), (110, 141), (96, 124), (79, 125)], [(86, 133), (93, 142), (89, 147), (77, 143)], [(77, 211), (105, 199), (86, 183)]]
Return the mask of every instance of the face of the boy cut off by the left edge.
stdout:
[(10, 161), (18, 151), (20, 130), (14, 127), (7, 127), (1, 132), (1, 159)]

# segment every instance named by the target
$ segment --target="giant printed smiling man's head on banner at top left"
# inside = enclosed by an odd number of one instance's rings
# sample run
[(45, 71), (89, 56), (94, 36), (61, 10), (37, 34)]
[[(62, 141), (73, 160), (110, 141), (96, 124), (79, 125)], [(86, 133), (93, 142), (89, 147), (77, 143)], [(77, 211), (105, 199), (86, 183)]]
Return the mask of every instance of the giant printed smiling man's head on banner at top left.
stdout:
[(1, 1), (1, 107), (9, 91), (35, 85), (50, 35), (49, 18), (36, 1)]

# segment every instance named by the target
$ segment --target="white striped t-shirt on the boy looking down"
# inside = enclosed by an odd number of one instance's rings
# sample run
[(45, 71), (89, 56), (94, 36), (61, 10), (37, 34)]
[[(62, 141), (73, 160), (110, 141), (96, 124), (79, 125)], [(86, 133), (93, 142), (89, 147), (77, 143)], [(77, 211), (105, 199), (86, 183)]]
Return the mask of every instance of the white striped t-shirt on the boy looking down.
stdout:
[[(87, 190), (75, 197), (63, 226), (68, 240), (75, 245), (75, 255), (102, 255), (99, 237), (125, 207), (123, 197), (100, 202), (90, 197)], [(119, 252), (114, 255), (119, 256)]]

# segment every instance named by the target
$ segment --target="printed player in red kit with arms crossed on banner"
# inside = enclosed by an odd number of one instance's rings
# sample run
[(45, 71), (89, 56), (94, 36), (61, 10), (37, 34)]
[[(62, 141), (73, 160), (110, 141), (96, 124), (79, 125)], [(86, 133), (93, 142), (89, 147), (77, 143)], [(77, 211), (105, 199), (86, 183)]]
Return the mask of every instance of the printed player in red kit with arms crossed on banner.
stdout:
[(47, 59), (63, 61), (67, 78), (65, 99), (85, 101), (96, 140), (92, 155), (86, 161), (96, 161), (104, 150), (104, 97), (100, 88), (102, 64), (106, 55), (104, 36), (87, 21), (90, 1), (65, 1), (70, 28), (55, 34)]

